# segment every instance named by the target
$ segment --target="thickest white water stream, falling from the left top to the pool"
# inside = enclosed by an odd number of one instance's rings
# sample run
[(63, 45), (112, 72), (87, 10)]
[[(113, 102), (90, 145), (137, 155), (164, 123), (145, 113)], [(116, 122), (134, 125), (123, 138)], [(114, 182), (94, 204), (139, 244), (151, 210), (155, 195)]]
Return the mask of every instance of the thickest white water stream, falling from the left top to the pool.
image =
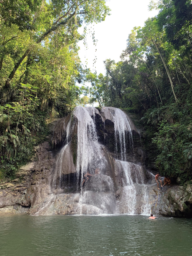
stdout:
[[(92, 193), (92, 190), (90, 191), (90, 189), (87, 189), (88, 182), (85, 184), (83, 191), (83, 182), (86, 182), (87, 178), (95, 180), (95, 182), (98, 182), (101, 178), (105, 179), (105, 177), (101, 177), (100, 175), (102, 175), (102, 169), (106, 166), (106, 159), (103, 157), (101, 145), (98, 143), (94, 119), (91, 118), (86, 108), (82, 107), (75, 109), (74, 116), (78, 119), (76, 171), (77, 177), (81, 176), (81, 196), (79, 200), (80, 214), (82, 214), (85, 205), (87, 208), (84, 213), (86, 214), (91, 214), (92, 211), (97, 214), (105, 213), (105, 211), (107, 211), (106, 206), (113, 200), (111, 200), (110, 196), (108, 198), (106, 193), (105, 195), (104, 193), (100, 193), (100, 184), (98, 184), (98, 188), (96, 189), (98, 196), (95, 195), (95, 192)], [(97, 168), (100, 169), (100, 175), (95, 174)], [(85, 178), (85, 174), (91, 174), (93, 176)], [(109, 180), (109, 183), (110, 182), (111, 181)], [(111, 184), (108, 185), (109, 187), (113, 186)], [(92, 200), (93, 196), (95, 198)], [(100, 200), (99, 197), (103, 197), (103, 200)]]

